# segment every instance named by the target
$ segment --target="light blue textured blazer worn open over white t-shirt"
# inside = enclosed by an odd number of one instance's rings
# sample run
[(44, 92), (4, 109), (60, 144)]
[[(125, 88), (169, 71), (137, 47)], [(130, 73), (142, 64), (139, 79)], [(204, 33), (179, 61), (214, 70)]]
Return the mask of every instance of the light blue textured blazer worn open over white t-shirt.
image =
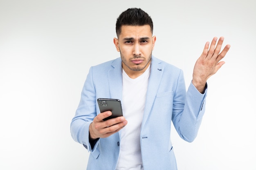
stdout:
[[(144, 170), (177, 170), (171, 121), (180, 137), (192, 142), (204, 114), (206, 93), (198, 92), (192, 83), (186, 92), (182, 70), (152, 56), (140, 135)], [(99, 139), (93, 148), (89, 143), (89, 125), (100, 113), (98, 98), (122, 100), (120, 57), (90, 68), (70, 125), (72, 138), (90, 152), (87, 169), (115, 170), (122, 143), (119, 132)]]

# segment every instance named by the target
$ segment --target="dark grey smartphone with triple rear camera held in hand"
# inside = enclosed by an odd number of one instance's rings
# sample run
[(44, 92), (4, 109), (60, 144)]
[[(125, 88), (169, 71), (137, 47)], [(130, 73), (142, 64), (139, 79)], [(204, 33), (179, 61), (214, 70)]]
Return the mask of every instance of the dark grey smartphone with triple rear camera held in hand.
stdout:
[(103, 99), (99, 98), (97, 99), (99, 110), (102, 112), (111, 111), (112, 115), (109, 117), (106, 117), (105, 120), (112, 119), (115, 117), (123, 116), (123, 110), (121, 101), (119, 99)]

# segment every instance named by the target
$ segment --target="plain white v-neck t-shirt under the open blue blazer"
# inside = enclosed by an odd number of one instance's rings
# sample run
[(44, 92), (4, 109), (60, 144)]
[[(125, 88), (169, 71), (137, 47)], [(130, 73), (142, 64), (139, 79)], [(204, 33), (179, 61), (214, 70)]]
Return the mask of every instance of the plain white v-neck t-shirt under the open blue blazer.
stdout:
[(132, 79), (123, 70), (123, 114), (128, 124), (120, 131), (120, 152), (116, 170), (144, 170), (141, 158), (140, 131), (144, 114), (150, 66)]

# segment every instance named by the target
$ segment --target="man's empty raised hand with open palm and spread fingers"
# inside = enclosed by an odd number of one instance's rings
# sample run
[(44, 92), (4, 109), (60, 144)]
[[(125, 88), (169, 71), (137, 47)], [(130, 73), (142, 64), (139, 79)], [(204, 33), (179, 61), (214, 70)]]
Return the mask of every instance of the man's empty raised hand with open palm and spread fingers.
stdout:
[(207, 79), (215, 74), (220, 67), (225, 64), (224, 61), (220, 61), (229, 51), (230, 45), (227, 44), (225, 48), (220, 52), (221, 46), (224, 41), (224, 37), (220, 37), (216, 45), (218, 38), (214, 37), (209, 49), (209, 42), (204, 46), (202, 55), (195, 62), (193, 70), (192, 83), (200, 93), (204, 91)]

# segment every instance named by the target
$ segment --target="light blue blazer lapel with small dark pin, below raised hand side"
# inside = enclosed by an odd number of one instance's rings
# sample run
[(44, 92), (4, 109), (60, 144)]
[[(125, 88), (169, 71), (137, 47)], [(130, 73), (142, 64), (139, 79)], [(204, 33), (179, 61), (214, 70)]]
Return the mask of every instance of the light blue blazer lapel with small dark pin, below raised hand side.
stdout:
[(164, 68), (161, 64), (161, 60), (158, 60), (157, 58), (152, 56), (150, 76), (148, 80), (148, 91), (146, 95), (146, 104), (144, 108), (144, 116), (141, 127), (143, 127), (144, 124), (146, 123), (150, 110), (153, 106), (155, 97), (157, 95), (158, 86), (161, 82), (163, 73)]

